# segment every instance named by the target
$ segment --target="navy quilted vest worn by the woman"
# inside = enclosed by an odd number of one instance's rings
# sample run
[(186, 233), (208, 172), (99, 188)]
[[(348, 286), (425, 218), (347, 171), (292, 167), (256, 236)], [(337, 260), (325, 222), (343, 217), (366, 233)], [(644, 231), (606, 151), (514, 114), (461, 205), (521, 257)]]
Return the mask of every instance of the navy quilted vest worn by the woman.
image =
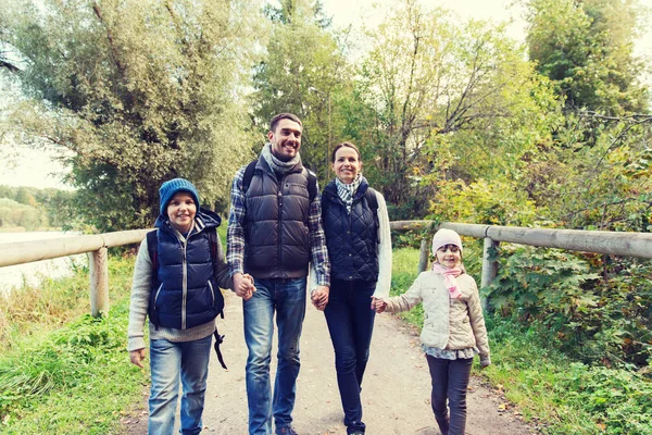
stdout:
[(324, 189), (322, 219), (331, 278), (378, 281), (378, 221), (364, 196), (367, 188), (363, 179), (353, 198), (351, 214), (337, 194), (335, 182)]

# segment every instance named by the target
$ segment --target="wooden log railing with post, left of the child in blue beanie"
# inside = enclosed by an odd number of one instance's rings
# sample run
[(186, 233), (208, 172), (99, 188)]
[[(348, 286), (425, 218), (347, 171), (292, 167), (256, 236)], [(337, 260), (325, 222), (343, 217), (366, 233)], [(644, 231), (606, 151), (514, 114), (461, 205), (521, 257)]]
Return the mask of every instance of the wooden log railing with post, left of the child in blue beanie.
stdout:
[(109, 263), (106, 248), (138, 244), (151, 229), (133, 229), (90, 236), (18, 241), (0, 245), (0, 268), (59, 257), (88, 253), (90, 312), (100, 316), (109, 311)]

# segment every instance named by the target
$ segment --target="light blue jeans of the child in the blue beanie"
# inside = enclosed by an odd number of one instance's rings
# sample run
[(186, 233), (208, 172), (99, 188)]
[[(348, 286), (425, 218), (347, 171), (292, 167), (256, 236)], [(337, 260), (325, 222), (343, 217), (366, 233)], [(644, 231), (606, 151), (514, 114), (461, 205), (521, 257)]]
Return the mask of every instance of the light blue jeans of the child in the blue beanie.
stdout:
[(195, 341), (173, 343), (150, 340), (152, 388), (149, 399), (148, 434), (172, 435), (174, 412), (179, 391), (181, 396), (181, 434), (201, 432), (211, 357), (212, 335)]

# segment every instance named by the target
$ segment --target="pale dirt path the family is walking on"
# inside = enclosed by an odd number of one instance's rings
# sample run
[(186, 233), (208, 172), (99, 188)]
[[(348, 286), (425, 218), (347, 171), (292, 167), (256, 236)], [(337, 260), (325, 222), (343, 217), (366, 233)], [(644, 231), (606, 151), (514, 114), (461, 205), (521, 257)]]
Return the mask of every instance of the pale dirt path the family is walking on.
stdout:
[[(223, 353), (229, 371), (214, 355), (211, 359), (204, 410), (206, 434), (247, 434), (242, 304), (233, 294), (226, 298), (226, 335)], [(273, 350), (275, 355), (276, 350)], [(272, 363), (274, 376), (275, 358)], [(400, 373), (400, 374), (399, 374)], [(274, 380), (274, 377), (272, 377)], [(415, 328), (389, 314), (376, 316), (369, 362), (363, 383), (363, 421), (371, 435), (437, 435), (429, 405), (430, 376)], [(468, 435), (526, 435), (536, 431), (501, 410), (503, 399), (473, 378), (468, 393)], [(143, 402), (146, 409), (146, 403)], [(177, 413), (178, 415), (178, 413)], [(301, 373), (297, 382), (294, 428), (301, 435), (346, 434), (335, 377), (333, 345), (323, 313), (306, 309), (301, 338)], [(177, 418), (178, 424), (178, 418)], [(129, 434), (147, 433), (147, 412), (123, 418)]]

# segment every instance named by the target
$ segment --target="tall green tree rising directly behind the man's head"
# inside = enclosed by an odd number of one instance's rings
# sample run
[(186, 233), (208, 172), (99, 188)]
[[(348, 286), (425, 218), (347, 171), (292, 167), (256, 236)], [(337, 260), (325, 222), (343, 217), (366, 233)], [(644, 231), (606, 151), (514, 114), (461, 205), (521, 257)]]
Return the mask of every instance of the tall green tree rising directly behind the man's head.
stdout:
[(328, 150), (340, 138), (339, 95), (350, 82), (343, 42), (329, 32), (319, 2), (284, 0), (279, 8), (268, 8), (267, 16), (272, 21), (267, 53), (254, 70), (256, 123), (266, 132), (277, 113), (301, 117), (301, 158), (325, 182)]

